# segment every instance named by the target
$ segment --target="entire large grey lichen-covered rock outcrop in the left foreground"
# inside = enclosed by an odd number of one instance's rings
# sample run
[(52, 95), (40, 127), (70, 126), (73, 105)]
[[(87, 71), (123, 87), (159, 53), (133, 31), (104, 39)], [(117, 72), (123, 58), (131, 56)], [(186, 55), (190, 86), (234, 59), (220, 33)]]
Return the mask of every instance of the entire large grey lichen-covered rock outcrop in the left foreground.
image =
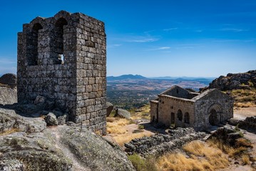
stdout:
[(46, 127), (0, 108), (0, 170), (135, 170), (118, 145), (86, 128)]

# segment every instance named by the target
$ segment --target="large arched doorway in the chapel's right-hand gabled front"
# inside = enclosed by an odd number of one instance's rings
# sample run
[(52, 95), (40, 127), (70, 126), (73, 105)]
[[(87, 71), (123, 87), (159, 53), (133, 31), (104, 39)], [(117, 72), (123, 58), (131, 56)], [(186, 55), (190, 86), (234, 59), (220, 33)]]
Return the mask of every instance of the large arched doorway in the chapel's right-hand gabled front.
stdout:
[(208, 113), (210, 125), (218, 125), (221, 123), (222, 108), (220, 108), (220, 105), (212, 105)]

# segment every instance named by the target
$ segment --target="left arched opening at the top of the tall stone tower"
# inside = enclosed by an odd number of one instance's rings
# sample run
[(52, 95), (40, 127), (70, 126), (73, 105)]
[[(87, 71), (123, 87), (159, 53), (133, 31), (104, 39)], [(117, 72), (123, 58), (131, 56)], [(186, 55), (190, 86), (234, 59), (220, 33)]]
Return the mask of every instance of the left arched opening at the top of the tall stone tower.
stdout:
[(29, 46), (27, 49), (27, 59), (29, 66), (36, 66), (38, 65), (39, 59), (39, 30), (43, 27), (41, 24), (36, 23), (31, 29), (30, 41)]

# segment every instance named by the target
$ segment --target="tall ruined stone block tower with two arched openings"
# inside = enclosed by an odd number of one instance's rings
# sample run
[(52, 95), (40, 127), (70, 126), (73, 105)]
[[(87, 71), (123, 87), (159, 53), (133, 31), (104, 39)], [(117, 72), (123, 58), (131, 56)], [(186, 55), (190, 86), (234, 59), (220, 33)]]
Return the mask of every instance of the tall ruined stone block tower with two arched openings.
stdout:
[(18, 33), (18, 102), (54, 100), (69, 120), (106, 134), (104, 23), (59, 11), (36, 17)]

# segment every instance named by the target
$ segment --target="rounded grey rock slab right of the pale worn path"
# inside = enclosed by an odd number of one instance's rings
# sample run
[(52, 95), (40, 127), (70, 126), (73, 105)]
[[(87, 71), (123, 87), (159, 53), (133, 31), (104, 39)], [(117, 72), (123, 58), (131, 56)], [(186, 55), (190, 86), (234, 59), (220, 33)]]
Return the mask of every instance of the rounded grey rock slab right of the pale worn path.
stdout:
[(76, 154), (79, 162), (91, 170), (135, 170), (118, 145), (86, 129), (61, 127), (61, 142)]

